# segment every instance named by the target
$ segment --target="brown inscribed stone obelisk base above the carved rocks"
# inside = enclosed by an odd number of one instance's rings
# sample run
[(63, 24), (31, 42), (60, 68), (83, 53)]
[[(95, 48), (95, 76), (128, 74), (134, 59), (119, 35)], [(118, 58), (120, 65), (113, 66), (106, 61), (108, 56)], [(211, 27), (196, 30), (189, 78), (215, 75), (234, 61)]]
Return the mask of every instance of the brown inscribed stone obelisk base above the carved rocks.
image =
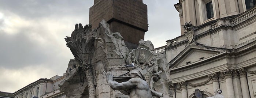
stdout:
[(110, 24), (113, 33), (122, 35), (128, 47), (137, 45), (148, 31), (147, 5), (142, 0), (94, 0), (89, 23), (94, 29), (102, 19)]

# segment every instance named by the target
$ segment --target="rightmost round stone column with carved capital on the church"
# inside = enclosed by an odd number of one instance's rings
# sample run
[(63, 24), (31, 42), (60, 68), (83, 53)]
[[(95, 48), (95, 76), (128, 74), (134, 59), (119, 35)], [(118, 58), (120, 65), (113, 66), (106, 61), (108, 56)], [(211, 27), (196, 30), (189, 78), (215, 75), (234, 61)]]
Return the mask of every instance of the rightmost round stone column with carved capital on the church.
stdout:
[(239, 72), (240, 72), (242, 96), (243, 98), (250, 98), (245, 69), (241, 68)]

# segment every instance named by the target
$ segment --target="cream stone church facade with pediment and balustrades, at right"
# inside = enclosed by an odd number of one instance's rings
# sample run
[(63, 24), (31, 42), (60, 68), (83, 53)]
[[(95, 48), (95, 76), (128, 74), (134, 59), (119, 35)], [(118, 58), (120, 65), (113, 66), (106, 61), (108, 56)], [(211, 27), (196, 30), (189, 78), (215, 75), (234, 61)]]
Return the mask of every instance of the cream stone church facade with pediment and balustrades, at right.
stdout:
[[(173, 98), (203, 97), (222, 89), (225, 98), (256, 98), (256, 1), (179, 0), (181, 36), (166, 53)], [(193, 25), (192, 25), (193, 24)]]

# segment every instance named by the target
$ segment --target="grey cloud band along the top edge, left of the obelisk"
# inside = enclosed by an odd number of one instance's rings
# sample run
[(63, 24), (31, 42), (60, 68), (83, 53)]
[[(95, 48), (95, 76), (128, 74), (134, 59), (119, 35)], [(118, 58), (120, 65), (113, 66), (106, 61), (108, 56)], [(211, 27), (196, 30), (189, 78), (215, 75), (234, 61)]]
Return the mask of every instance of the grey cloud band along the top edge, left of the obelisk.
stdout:
[(88, 15), (93, 0), (0, 0), (0, 11), (11, 11), (25, 18), (51, 15)]

